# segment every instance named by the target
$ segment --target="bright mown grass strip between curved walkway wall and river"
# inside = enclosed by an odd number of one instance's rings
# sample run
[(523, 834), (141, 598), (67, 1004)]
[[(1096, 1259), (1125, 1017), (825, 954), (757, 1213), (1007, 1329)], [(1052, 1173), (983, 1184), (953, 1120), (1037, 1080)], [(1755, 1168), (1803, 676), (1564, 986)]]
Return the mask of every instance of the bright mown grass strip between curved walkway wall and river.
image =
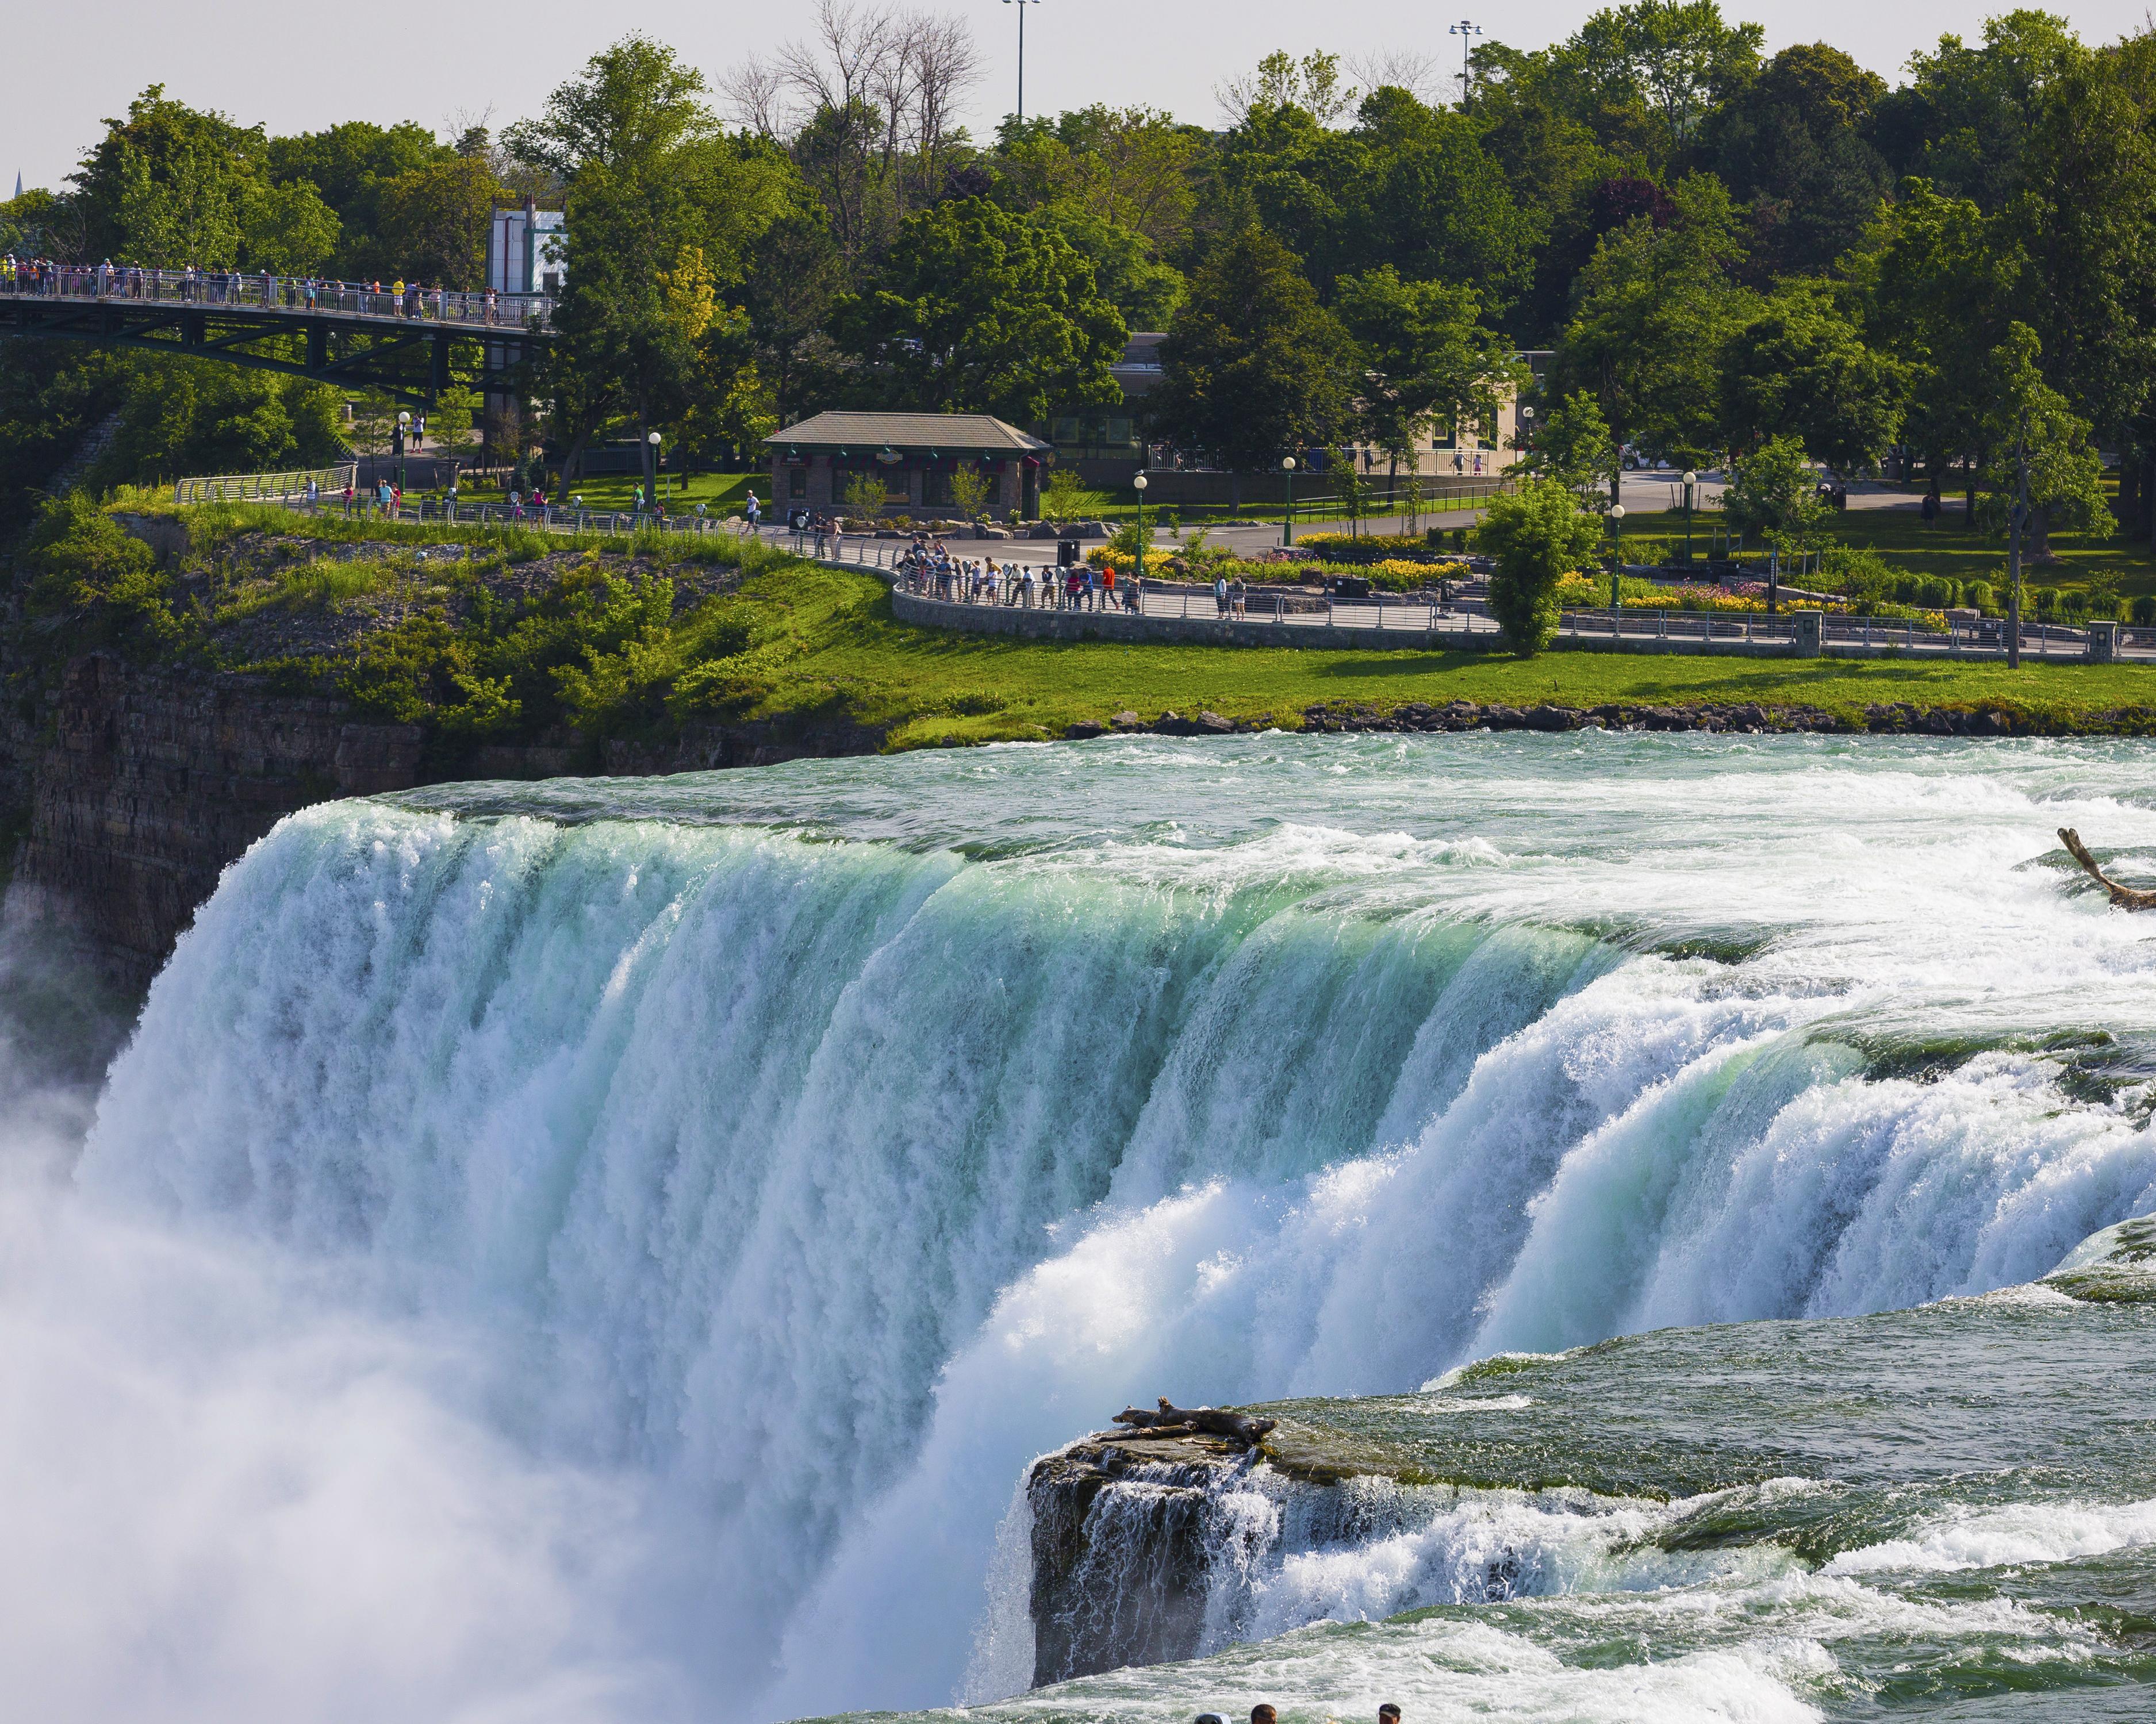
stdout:
[[(759, 655), (752, 715), (845, 709), (890, 724), (893, 748), (1063, 735), (1078, 720), (1134, 711), (1156, 720), (1210, 709), (1300, 726), (1304, 707), (1354, 700), (1634, 705), (1811, 705), (1863, 718), (1874, 703), (1996, 707), (2048, 720), (2150, 707), (2156, 668), (1895, 659), (1733, 659), (1544, 653), (1343, 653), (1255, 646), (1121, 646), (1020, 642), (916, 629), (890, 614), (880, 582), (826, 569), (783, 569), (748, 582), (737, 603), (791, 638)], [(744, 690), (746, 692), (746, 690)]]

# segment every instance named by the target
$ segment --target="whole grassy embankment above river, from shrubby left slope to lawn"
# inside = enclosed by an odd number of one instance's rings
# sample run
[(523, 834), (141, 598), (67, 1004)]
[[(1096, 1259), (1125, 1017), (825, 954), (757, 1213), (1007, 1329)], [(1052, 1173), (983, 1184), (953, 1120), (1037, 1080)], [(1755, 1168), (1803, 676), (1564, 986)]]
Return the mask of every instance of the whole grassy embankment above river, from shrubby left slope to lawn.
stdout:
[[(1878, 703), (1915, 703), (1996, 709), (2044, 728), (2113, 728), (2104, 715), (2128, 711), (2124, 728), (2156, 728), (2156, 670), (2139, 666), (1026, 642), (901, 625), (875, 578), (772, 547), (750, 547), (742, 565), (735, 541), (565, 545), (535, 532), (183, 513), (194, 550), (172, 569), (147, 567), (147, 552), (132, 556), (132, 541), (80, 506), (56, 519), (30, 552), (41, 638), (343, 694), (429, 724), (451, 752), (563, 728), (660, 739), (701, 718), (847, 720), (886, 726), (893, 748), (1059, 737), (1119, 711), (1151, 722), (1210, 709), (1294, 728), (1317, 703), (1384, 711), (1410, 700), (1759, 703), (1852, 720)], [(265, 562), (259, 547), (272, 534)], [(367, 539), (379, 543), (364, 560), (336, 560)], [(451, 539), (470, 554), (418, 558)], [(73, 627), (58, 629), (63, 618)]]

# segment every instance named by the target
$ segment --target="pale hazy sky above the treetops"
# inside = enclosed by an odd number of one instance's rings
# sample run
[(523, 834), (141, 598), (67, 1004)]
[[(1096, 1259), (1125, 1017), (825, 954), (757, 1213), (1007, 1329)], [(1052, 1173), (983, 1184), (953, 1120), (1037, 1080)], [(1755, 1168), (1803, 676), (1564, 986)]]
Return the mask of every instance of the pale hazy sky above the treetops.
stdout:
[[(1917, 47), (1943, 30), (1975, 34), (1986, 11), (1949, 0), (1824, 0), (1746, 6), (1768, 47), (1833, 41), (1895, 80)], [(975, 19), (990, 75), (975, 93), (975, 131), (1009, 112), (1018, 73), (1018, 6), (1009, 0), (929, 0)], [(1352, 56), (1406, 47), (1457, 60), (1451, 19), (1473, 17), (1501, 41), (1539, 47), (1570, 34), (1595, 6), (1587, 0), (1462, 0), (1447, 13), (1391, 4), (1311, 0), (1041, 0), (1026, 9), (1026, 110), (1087, 101), (1145, 101), (1212, 123), (1214, 86), (1274, 47), (1330, 47)], [(2063, 6), (2091, 41), (2134, 28), (2147, 0)], [(2001, 0), (1994, 11), (2007, 11)], [(640, 28), (675, 43), (705, 73), (798, 34), (808, 0), (645, 0), (634, 9), (561, 4), (291, 6), (282, 0), (15, 0), (0, 24), (9, 50), (0, 101), (0, 196), (58, 185), (106, 114), (144, 84), (272, 131), (313, 131), (349, 119), (414, 119), (446, 129), (453, 116), (494, 110), (496, 123), (530, 112), (586, 54)]]

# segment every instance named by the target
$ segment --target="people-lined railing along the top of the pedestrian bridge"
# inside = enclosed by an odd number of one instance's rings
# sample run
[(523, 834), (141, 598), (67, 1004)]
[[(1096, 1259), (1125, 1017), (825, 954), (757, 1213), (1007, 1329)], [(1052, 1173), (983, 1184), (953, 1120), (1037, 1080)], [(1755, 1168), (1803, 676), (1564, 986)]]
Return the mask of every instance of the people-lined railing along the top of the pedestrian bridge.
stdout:
[(554, 300), (545, 293), (451, 293), (379, 282), (332, 282), (319, 276), (237, 274), (224, 269), (132, 269), (123, 265), (22, 267), (0, 291), (93, 304), (160, 304), (201, 310), (280, 310), (310, 317), (354, 317), (395, 323), (453, 323), (472, 330), (552, 330)]

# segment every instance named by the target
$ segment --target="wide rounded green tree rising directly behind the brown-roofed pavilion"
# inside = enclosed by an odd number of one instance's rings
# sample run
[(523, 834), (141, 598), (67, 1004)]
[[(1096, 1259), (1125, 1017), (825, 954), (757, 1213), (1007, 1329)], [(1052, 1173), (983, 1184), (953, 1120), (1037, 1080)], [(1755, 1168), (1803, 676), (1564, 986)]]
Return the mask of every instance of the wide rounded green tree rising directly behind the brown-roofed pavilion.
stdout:
[(1059, 235), (957, 198), (910, 218), (871, 291), (839, 302), (832, 334), (877, 392), (923, 412), (1020, 425), (1123, 399), (1123, 317)]

